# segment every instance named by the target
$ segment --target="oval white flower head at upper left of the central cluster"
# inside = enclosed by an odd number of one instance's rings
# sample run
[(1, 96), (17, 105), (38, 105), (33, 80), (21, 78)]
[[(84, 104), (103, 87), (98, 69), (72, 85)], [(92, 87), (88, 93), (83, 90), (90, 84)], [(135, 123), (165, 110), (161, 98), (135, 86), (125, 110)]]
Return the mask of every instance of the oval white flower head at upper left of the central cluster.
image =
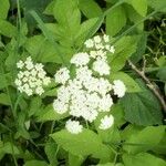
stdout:
[(71, 63), (75, 64), (76, 66), (86, 65), (90, 61), (90, 56), (87, 53), (80, 52), (73, 55), (71, 59)]

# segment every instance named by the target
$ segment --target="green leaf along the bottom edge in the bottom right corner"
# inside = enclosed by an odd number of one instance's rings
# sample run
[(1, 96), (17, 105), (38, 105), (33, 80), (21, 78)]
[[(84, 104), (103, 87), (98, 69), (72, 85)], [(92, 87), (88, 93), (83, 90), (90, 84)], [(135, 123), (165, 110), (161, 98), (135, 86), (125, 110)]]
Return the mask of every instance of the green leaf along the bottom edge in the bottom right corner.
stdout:
[(148, 153), (141, 153), (137, 155), (123, 155), (125, 166), (166, 166), (166, 162), (159, 157)]

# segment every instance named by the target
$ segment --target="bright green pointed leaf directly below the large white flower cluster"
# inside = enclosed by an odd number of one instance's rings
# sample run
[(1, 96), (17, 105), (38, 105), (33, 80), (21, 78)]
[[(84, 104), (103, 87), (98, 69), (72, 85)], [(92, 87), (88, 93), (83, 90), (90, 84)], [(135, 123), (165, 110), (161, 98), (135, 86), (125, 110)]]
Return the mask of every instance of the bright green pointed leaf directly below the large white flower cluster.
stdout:
[(62, 129), (51, 135), (51, 137), (65, 151), (73, 155), (92, 155), (104, 149), (103, 155), (107, 155), (102, 139), (92, 131), (83, 129), (80, 134), (71, 134), (66, 129)]

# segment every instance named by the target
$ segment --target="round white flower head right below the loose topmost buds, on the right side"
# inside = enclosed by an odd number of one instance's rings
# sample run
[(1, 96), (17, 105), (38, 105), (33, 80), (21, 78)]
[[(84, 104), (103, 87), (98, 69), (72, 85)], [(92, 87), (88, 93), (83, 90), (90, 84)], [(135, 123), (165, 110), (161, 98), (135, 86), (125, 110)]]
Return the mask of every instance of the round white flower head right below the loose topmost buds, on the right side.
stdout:
[(97, 59), (93, 63), (93, 70), (97, 72), (100, 75), (108, 75), (110, 74), (110, 65), (103, 59)]

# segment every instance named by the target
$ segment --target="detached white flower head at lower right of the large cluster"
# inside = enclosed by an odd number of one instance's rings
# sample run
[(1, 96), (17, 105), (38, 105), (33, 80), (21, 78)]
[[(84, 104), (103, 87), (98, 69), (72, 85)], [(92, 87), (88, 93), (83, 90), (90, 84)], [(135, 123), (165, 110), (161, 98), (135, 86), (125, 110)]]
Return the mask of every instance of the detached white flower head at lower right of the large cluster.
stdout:
[(101, 120), (101, 124), (100, 124), (98, 128), (105, 131), (105, 129), (108, 129), (113, 124), (114, 124), (114, 117), (112, 115), (110, 115), (110, 116), (105, 115)]

